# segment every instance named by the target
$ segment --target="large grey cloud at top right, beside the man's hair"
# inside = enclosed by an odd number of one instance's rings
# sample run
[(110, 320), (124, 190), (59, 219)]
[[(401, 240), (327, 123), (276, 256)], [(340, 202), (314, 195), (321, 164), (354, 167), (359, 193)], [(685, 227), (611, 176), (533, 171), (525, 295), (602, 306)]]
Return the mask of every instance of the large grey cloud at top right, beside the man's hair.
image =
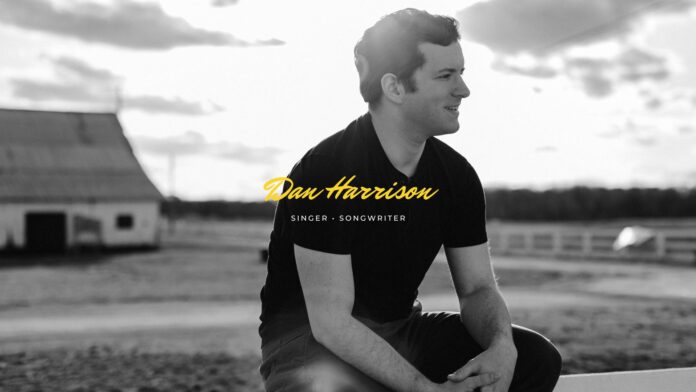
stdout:
[(457, 16), (465, 37), (498, 54), (543, 55), (623, 37), (646, 15), (675, 13), (693, 5), (655, 0), (491, 0)]

